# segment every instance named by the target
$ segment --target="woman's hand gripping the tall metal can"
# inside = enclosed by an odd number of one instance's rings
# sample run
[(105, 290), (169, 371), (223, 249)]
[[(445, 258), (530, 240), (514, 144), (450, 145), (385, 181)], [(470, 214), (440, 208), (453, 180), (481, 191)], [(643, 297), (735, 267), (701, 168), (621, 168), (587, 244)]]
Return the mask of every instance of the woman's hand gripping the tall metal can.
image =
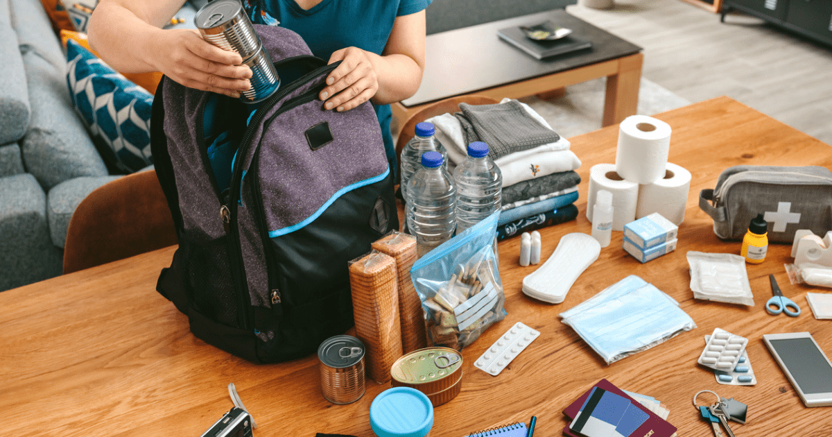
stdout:
[(251, 69), (240, 65), (239, 53), (216, 47), (192, 30), (159, 33), (149, 47), (156, 71), (186, 87), (235, 98), (250, 88)]

